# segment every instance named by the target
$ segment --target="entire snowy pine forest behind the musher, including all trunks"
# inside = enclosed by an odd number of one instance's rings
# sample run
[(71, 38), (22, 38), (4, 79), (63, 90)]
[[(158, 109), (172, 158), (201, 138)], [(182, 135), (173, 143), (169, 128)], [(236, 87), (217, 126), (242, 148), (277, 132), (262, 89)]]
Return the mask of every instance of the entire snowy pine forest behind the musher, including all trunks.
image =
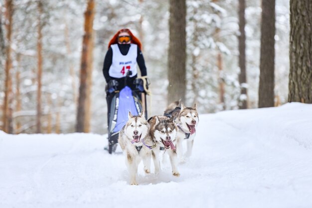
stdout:
[(310, 0), (0, 0), (1, 130), (106, 133), (103, 61), (121, 28), (143, 45), (149, 116), (178, 99), (200, 114), (312, 103), (311, 13)]

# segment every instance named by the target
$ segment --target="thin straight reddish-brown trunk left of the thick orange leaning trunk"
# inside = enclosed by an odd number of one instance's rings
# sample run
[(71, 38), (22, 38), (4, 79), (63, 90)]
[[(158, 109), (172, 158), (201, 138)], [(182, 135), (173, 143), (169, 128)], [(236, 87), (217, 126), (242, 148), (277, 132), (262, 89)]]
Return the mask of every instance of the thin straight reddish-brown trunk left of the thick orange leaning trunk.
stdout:
[(42, 15), (42, 2), (38, 1), (38, 39), (37, 39), (37, 53), (38, 53), (38, 72), (37, 72), (37, 115), (36, 115), (36, 133), (41, 133), (41, 77), (42, 77), (42, 28), (41, 28), (41, 15)]

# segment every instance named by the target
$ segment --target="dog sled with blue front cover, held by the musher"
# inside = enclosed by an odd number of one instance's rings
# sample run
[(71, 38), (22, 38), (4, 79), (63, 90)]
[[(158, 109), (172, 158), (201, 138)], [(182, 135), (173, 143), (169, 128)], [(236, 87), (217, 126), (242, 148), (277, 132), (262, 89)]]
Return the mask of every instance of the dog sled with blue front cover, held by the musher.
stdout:
[[(127, 79), (130, 77), (131, 71), (127, 73), (125, 78), (125, 87), (120, 91), (115, 90), (109, 95), (112, 96), (109, 112), (108, 112), (108, 152), (112, 154), (115, 152), (118, 143), (119, 131), (128, 121), (129, 111), (132, 115), (139, 115), (144, 111), (147, 118), (147, 100), (146, 94), (149, 83), (144, 83), (142, 78), (135, 80), (135, 89), (127, 86)], [(146, 87), (144, 87), (146, 85)], [(108, 86), (106, 90), (108, 92)]]

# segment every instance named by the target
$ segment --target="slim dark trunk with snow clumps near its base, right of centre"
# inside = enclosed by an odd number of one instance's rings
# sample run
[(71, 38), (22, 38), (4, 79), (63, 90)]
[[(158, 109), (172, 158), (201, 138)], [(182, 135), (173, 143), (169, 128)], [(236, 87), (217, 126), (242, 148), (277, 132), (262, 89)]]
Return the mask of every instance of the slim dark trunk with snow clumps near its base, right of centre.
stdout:
[(239, 0), (239, 84), (241, 88), (241, 95), (239, 99), (239, 109), (247, 109), (247, 78), (246, 78), (246, 36), (245, 36), (245, 0)]

